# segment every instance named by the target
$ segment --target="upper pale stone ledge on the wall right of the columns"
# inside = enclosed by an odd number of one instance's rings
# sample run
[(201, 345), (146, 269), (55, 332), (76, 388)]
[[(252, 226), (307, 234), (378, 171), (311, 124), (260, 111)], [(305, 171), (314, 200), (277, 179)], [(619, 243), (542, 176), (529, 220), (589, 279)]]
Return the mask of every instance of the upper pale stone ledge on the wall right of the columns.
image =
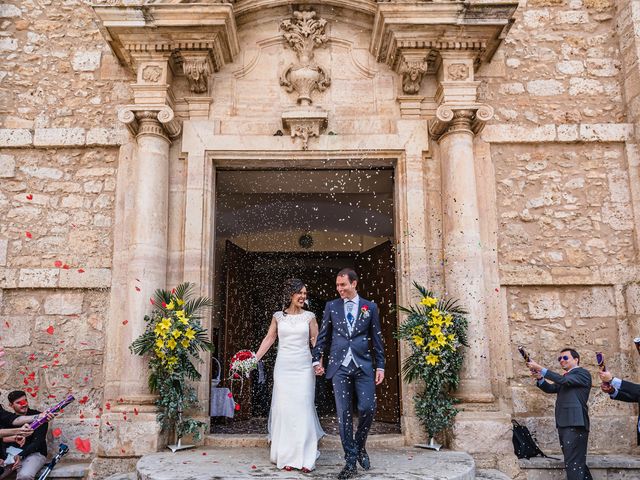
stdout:
[(580, 123), (547, 125), (487, 125), (481, 137), (489, 143), (626, 142), (633, 136), (631, 123)]

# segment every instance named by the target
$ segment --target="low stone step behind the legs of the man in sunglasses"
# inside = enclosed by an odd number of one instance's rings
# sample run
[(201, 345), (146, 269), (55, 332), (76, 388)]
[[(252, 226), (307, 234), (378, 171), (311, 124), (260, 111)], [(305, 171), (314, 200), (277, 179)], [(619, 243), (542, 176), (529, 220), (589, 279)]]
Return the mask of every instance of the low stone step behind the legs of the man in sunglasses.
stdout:
[[(552, 456), (562, 458), (562, 454)], [(534, 457), (518, 460), (527, 480), (564, 478), (564, 462)], [(640, 478), (640, 458), (631, 455), (588, 455), (587, 465), (594, 480), (629, 480)]]

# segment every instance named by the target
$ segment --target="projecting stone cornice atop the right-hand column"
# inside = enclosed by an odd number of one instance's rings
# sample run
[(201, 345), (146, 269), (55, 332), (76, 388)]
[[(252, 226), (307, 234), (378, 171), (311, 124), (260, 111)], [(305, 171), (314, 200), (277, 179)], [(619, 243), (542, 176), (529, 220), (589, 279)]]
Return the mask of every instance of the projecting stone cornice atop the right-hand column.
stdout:
[(403, 49), (471, 50), (488, 62), (513, 23), (518, 2), (385, 2), (378, 4), (369, 50), (397, 70)]

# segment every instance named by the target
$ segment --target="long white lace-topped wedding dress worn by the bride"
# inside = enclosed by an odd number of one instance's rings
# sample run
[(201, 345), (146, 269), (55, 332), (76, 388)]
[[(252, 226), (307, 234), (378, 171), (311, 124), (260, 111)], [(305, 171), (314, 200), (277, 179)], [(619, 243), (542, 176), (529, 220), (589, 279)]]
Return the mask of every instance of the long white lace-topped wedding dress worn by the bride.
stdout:
[(273, 316), (278, 323), (278, 356), (268, 422), (271, 462), (278, 468), (313, 470), (320, 455), (318, 440), (325, 435), (314, 402), (316, 377), (309, 347), (309, 322), (315, 316), (307, 311)]

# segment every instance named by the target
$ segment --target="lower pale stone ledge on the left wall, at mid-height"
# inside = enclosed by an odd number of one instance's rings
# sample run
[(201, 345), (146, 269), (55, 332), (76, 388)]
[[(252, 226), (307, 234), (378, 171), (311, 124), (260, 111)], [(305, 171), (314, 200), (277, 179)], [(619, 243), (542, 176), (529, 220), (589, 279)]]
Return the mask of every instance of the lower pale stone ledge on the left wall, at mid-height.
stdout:
[(0, 268), (0, 289), (14, 288), (110, 288), (110, 268)]

